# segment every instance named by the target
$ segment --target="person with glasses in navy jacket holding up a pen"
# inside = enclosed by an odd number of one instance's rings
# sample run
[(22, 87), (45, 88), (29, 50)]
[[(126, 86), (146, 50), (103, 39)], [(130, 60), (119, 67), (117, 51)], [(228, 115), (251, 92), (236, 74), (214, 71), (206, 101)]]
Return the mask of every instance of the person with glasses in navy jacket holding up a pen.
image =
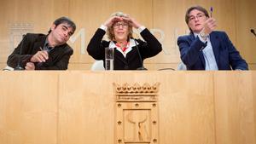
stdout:
[(177, 38), (181, 59), (188, 70), (247, 70), (247, 62), (225, 32), (214, 31), (216, 20), (201, 6), (187, 10), (190, 34)]

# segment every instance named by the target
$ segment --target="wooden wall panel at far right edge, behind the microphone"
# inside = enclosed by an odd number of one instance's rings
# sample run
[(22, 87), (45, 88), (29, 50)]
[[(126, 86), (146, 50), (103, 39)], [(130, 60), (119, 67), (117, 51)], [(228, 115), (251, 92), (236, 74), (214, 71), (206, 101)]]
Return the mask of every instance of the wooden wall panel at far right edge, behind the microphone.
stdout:
[(241, 55), (248, 63), (253, 64), (256, 63), (256, 37), (253, 36), (250, 30), (254, 29), (256, 32), (255, 5), (255, 0), (236, 0), (237, 49), (241, 51)]

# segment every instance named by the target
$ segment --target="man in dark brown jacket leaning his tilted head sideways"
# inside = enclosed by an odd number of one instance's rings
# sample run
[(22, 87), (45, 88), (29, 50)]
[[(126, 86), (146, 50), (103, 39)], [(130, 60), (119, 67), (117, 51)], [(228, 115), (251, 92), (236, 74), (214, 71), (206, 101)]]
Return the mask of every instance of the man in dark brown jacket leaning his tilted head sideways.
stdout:
[(67, 41), (75, 29), (72, 20), (61, 17), (54, 21), (48, 35), (27, 33), (9, 55), (7, 65), (26, 70), (67, 70), (73, 55)]

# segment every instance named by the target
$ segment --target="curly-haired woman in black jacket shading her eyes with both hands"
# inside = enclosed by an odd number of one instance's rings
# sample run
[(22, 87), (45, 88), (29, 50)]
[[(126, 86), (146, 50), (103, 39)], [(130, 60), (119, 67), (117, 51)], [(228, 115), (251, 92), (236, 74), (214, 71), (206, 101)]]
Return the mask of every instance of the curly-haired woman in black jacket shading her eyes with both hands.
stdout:
[[(138, 29), (146, 42), (132, 38), (132, 27)], [(110, 41), (102, 40), (106, 31)], [(160, 42), (145, 26), (121, 12), (112, 14), (97, 29), (95, 35), (90, 39), (87, 51), (94, 59), (103, 60), (105, 64), (106, 47), (114, 49), (114, 70), (143, 69), (143, 60), (159, 54), (162, 50)]]

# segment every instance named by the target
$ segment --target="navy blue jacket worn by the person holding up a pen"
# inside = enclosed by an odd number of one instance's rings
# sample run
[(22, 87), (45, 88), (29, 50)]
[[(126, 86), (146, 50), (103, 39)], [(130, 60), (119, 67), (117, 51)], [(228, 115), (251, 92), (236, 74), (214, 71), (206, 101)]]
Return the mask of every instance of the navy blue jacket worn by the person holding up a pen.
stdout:
[[(247, 70), (247, 62), (231, 43), (225, 32), (212, 32), (210, 34), (212, 50), (218, 65), (218, 70)], [(177, 38), (181, 59), (188, 70), (205, 70), (206, 62), (202, 54), (207, 43), (202, 43), (193, 33)]]

